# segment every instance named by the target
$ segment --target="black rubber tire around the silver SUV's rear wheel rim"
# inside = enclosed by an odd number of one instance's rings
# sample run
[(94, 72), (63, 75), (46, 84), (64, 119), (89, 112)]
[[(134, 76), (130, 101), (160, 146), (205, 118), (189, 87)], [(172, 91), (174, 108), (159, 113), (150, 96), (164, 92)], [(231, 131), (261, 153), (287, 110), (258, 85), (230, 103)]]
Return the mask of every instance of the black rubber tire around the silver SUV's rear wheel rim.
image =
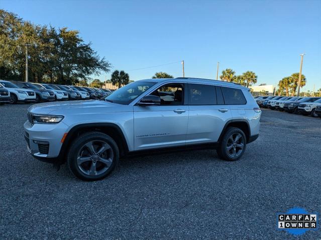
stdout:
[[(238, 152), (236, 152), (235, 156), (232, 156), (231, 153), (228, 151), (228, 146), (230, 144), (233, 145), (234, 143), (231, 143), (231, 139), (230, 137), (232, 136), (239, 136), (240, 135), (240, 141), (236, 141), (238, 145), (241, 145), (240, 143), (243, 143), (243, 148), (239, 148), (239, 147), (233, 147), (234, 149), (239, 149)], [(229, 147), (230, 147), (229, 146)], [(220, 156), (220, 158), (227, 160), (227, 161), (236, 161), (239, 160), (246, 149), (246, 136), (244, 134), (244, 132), (240, 129), (240, 128), (236, 128), (236, 127), (229, 127), (226, 132), (223, 135), (223, 138), (220, 142), (219, 148), (217, 149), (217, 153)], [(233, 149), (231, 149), (233, 151)], [(231, 151), (230, 150), (230, 151)], [(242, 150), (242, 151), (241, 151)]]

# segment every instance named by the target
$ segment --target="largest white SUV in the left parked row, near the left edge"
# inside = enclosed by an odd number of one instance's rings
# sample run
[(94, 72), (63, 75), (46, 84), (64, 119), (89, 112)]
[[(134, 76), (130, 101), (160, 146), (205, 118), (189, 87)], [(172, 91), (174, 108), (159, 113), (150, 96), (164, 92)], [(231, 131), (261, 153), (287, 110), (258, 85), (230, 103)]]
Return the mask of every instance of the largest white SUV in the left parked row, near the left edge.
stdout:
[(36, 93), (33, 90), (19, 88), (10, 81), (0, 80), (0, 84), (10, 92), (11, 104), (16, 104), (17, 102), (27, 103), (36, 101)]

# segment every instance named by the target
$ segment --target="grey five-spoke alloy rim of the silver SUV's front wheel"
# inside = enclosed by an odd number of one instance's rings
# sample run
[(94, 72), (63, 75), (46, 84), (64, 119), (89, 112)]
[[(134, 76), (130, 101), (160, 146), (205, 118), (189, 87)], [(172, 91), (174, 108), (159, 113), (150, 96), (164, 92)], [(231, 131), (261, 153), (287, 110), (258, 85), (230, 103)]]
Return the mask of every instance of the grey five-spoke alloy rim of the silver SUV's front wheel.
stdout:
[(114, 152), (104, 141), (90, 141), (77, 154), (77, 166), (84, 174), (96, 176), (106, 172), (112, 165)]

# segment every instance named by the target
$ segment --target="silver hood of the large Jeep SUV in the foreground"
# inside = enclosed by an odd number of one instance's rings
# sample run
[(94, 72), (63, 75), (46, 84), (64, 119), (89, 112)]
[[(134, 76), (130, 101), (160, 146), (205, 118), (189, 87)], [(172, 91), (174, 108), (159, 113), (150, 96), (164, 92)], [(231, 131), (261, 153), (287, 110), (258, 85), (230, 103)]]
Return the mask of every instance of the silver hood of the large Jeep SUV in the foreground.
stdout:
[[(124, 109), (122, 108), (124, 106)], [(83, 113), (93, 113), (93, 112), (124, 112), (128, 109), (128, 105), (120, 105), (116, 103), (98, 101), (98, 100), (88, 100), (88, 101), (68, 101), (68, 102), (48, 102), (34, 104), (28, 108), (29, 112), (36, 114), (83, 114)]]

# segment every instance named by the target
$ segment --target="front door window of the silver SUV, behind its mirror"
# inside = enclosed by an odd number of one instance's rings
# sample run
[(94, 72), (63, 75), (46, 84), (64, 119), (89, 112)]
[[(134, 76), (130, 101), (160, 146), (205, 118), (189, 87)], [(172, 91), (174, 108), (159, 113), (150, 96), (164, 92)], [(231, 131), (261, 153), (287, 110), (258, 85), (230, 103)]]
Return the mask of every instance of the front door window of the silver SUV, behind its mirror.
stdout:
[(161, 105), (183, 105), (184, 85), (180, 83), (170, 83), (161, 86), (150, 95), (159, 96)]

